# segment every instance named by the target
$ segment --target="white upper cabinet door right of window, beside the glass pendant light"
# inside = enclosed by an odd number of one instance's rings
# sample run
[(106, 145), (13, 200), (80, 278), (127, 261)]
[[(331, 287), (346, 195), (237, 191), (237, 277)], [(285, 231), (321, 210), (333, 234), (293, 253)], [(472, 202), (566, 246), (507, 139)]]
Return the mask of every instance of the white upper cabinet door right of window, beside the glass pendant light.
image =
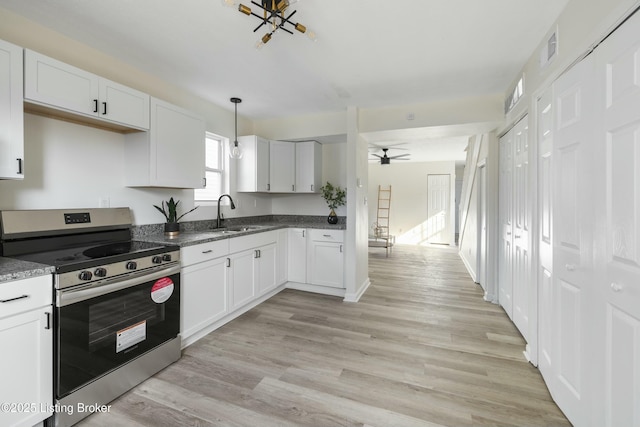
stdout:
[(245, 193), (268, 192), (269, 141), (256, 135), (241, 136), (238, 144), (242, 158), (236, 160), (236, 191)]

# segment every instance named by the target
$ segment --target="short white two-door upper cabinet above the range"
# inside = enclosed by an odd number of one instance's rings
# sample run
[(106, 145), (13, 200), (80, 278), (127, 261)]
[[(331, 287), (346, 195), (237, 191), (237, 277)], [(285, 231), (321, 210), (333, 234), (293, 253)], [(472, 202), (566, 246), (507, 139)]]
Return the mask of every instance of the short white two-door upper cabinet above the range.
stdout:
[(74, 115), (149, 129), (149, 95), (25, 50), (26, 102)]

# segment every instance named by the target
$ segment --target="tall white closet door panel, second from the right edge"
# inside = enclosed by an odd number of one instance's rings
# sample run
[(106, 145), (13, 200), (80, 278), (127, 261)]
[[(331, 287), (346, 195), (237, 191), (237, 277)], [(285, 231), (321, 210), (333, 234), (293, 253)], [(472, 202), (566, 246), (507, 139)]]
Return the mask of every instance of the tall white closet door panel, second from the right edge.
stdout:
[(553, 349), (552, 395), (574, 425), (589, 418), (588, 384), (593, 331), (594, 138), (593, 58), (587, 57), (553, 84)]

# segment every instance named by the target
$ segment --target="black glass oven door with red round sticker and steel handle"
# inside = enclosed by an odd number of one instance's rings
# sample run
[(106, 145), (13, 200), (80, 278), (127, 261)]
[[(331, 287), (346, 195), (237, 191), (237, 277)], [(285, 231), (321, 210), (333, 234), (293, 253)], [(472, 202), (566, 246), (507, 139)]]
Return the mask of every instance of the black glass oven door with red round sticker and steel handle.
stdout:
[(56, 295), (56, 397), (180, 332), (180, 267)]

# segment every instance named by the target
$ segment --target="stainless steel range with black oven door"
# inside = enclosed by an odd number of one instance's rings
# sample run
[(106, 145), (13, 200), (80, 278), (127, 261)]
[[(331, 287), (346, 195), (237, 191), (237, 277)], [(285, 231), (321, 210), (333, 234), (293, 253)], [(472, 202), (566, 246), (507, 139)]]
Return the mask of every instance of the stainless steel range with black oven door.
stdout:
[(180, 358), (180, 251), (131, 240), (129, 208), (0, 212), (0, 255), (55, 267), (50, 425)]

